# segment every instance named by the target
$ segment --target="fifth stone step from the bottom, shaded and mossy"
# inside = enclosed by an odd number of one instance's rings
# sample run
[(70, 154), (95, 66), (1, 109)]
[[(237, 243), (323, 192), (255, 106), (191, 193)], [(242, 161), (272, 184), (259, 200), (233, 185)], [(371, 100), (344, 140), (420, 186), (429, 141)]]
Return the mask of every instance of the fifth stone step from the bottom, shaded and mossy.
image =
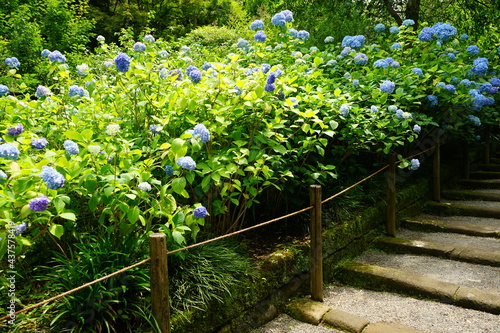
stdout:
[(492, 201), (431, 201), (426, 204), (424, 211), (435, 215), (461, 215), (495, 219), (500, 218), (500, 204)]

